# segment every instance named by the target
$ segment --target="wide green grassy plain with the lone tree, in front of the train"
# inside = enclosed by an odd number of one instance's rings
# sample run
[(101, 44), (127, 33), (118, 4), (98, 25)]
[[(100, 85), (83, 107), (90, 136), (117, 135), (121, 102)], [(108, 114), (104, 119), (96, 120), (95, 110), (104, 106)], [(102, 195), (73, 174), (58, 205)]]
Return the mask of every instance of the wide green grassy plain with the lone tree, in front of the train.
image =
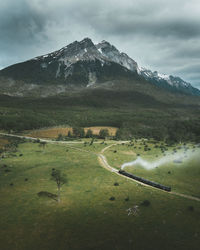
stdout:
[[(103, 169), (94, 153), (107, 145), (73, 145), (89, 151), (83, 152), (67, 145), (47, 144), (43, 149), (38, 143), (26, 142), (19, 144), (17, 152), (5, 153), (0, 161), (1, 249), (199, 249), (200, 203), (143, 187)], [(126, 145), (116, 146), (117, 153), (114, 149), (105, 152), (114, 167), (133, 160), (141, 150)], [(152, 149), (146, 157), (154, 153)], [(199, 170), (193, 164), (190, 167), (197, 172), (190, 185), (194, 184), (192, 192), (197, 194)], [(37, 195), (40, 191), (56, 194), (56, 184), (50, 180), (52, 168), (68, 176), (59, 204)], [(180, 183), (186, 172), (177, 170), (175, 175), (174, 170), (170, 177)], [(110, 197), (115, 200), (110, 201)], [(142, 205), (144, 200), (150, 205)], [(135, 205), (138, 213), (128, 215), (127, 209)]]

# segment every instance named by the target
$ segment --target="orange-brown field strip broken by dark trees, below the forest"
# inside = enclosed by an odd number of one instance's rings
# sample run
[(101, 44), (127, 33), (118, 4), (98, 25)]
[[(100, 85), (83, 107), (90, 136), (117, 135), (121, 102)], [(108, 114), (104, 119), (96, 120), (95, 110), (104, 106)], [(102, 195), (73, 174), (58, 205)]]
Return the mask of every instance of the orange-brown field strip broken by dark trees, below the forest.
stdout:
[[(101, 129), (108, 129), (109, 134), (111, 136), (114, 136), (116, 134), (117, 128), (115, 127), (107, 127), (107, 126), (102, 126), (102, 127), (87, 127), (84, 128), (85, 133), (88, 131), (88, 129), (92, 130), (92, 133), (94, 135), (98, 135), (99, 131)], [(55, 139), (58, 137), (59, 134), (62, 135), (67, 135), (68, 132), (71, 131), (72, 133), (72, 128), (66, 128), (66, 127), (55, 127), (55, 128), (46, 128), (46, 129), (39, 129), (39, 130), (34, 130), (31, 131), (27, 134), (27, 136), (31, 136), (34, 138), (49, 138), (49, 139)]]

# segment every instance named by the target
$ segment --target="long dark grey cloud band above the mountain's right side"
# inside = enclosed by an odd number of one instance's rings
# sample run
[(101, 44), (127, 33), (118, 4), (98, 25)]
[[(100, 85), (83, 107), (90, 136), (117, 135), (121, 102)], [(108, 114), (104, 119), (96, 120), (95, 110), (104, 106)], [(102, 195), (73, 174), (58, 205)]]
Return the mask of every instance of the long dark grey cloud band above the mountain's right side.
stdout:
[[(130, 12), (130, 10), (128, 11)], [(115, 35), (142, 35), (157, 37), (174, 37), (178, 39), (188, 39), (200, 36), (199, 20), (184, 17), (160, 17), (157, 13), (151, 12), (151, 15), (141, 14), (134, 16), (133, 13), (108, 13), (106, 18), (100, 17), (98, 21), (92, 20), (94, 28), (105, 34)], [(155, 16), (154, 16), (155, 15)]]

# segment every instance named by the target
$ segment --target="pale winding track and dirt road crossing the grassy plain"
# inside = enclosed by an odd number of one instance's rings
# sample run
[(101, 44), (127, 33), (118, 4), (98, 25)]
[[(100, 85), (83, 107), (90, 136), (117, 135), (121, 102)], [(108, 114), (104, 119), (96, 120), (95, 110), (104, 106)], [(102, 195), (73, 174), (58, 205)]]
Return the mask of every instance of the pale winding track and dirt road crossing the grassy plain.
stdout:
[[(2, 136), (10, 136), (10, 137), (17, 137), (17, 138), (28, 139), (28, 140), (33, 140), (33, 141), (36, 141), (36, 140), (39, 139), (40, 141), (47, 142), (47, 143), (52, 143), (52, 144), (82, 144), (82, 143), (84, 143), (84, 142), (75, 142), (75, 141), (52, 141), (52, 140), (47, 140), (47, 139), (40, 139), (40, 138), (34, 138), (34, 137), (22, 136), (22, 135), (14, 135), (14, 134), (7, 134), (7, 133), (0, 133), (0, 135), (2, 135)], [(77, 148), (77, 147), (73, 147), (73, 146), (70, 146), (70, 145), (67, 145), (67, 146), (70, 147), (70, 148), (73, 148), (75, 150), (78, 150), (78, 151), (86, 152), (86, 153), (93, 154), (93, 155), (95, 154), (96, 156), (98, 156), (99, 163), (103, 168), (105, 168), (106, 170), (108, 170), (108, 171), (110, 171), (112, 173), (115, 173), (115, 174), (119, 175), (120, 177), (129, 179), (130, 181), (137, 182), (142, 186), (152, 188), (152, 189), (156, 189), (157, 191), (161, 191), (161, 192), (165, 192), (167, 194), (183, 197), (183, 198), (186, 198), (186, 199), (189, 199), (189, 200), (200, 201), (200, 198), (198, 198), (198, 197), (194, 197), (194, 196), (186, 195), (186, 194), (181, 194), (181, 193), (177, 193), (177, 192), (173, 192), (173, 191), (172, 192), (166, 192), (166, 191), (164, 191), (162, 189), (155, 188), (155, 187), (150, 186), (148, 184), (139, 182), (139, 181), (137, 181), (135, 179), (132, 179), (132, 178), (129, 178), (127, 176), (119, 174), (118, 169), (113, 168), (112, 166), (109, 165), (109, 163), (108, 163), (106, 157), (103, 155), (103, 153), (106, 150), (108, 150), (109, 148), (113, 147), (113, 146), (116, 146), (116, 145), (121, 144), (121, 143), (126, 143), (126, 142), (128, 142), (128, 141), (119, 141), (117, 143), (111, 144), (111, 145), (103, 148), (101, 150), (100, 154), (94, 153), (94, 152), (91, 152), (91, 151), (87, 151), (87, 150), (84, 150), (84, 149), (80, 149), (80, 148)]]

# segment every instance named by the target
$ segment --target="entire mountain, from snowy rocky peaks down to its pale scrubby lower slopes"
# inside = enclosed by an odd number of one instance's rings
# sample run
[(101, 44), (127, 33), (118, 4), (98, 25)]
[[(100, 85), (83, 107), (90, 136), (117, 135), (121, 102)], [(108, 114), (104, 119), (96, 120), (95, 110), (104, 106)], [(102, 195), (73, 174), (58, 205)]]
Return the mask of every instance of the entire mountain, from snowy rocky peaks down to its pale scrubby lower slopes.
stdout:
[(181, 78), (139, 68), (109, 42), (94, 44), (90, 38), (0, 71), (1, 93), (19, 96), (34, 91), (48, 96), (114, 80), (141, 84), (146, 81), (173, 92), (200, 95), (198, 89)]

